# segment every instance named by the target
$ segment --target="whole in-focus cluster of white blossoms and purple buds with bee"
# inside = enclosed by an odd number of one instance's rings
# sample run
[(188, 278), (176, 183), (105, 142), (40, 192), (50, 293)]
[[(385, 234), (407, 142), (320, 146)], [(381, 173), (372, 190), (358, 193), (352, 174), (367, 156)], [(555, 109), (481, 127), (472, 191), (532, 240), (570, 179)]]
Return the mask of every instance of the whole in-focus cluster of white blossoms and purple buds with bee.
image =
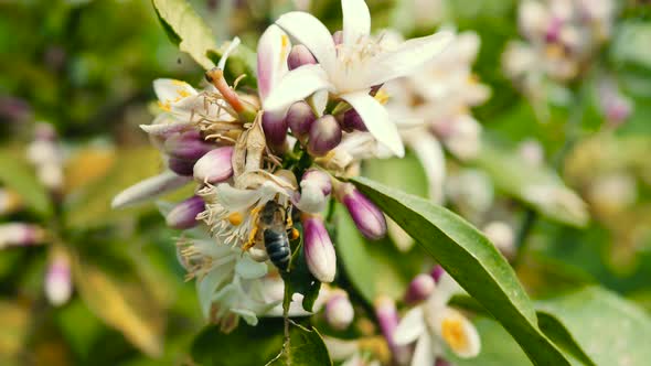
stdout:
[[(366, 238), (386, 233), (382, 211), (345, 179), (363, 159), (404, 154), (383, 86), (419, 72), (452, 35), (404, 42), (376, 36), (363, 0), (341, 3), (343, 30), (334, 34), (306, 12), (286, 13), (263, 33), (257, 90), (237, 90), (239, 79), (230, 84), (224, 76), (238, 39), (206, 73), (202, 89), (154, 82), (160, 114), (141, 127), (167, 169), (120, 193), (113, 205), (194, 182), (193, 196), (163, 212), (169, 226), (185, 229), (180, 260), (196, 279), (204, 314), (225, 331), (239, 317), (255, 324), (258, 315), (276, 313), (281, 297), (268, 293), (275, 287), (269, 283), (282, 283), (279, 274), (291, 269), (296, 248), (318, 281), (334, 280), (334, 244), (323, 218), (331, 200), (348, 208)], [(302, 246), (296, 245), (301, 235), (295, 226), (302, 228)], [(317, 303), (334, 329), (352, 321), (345, 292), (322, 290)]]

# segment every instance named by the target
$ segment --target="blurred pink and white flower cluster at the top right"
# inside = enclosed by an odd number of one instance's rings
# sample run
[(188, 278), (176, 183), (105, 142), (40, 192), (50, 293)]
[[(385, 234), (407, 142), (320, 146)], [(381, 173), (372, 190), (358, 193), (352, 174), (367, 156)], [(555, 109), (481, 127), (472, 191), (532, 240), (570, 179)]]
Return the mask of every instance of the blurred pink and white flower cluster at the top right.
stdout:
[(527, 0), (519, 24), (525, 42), (512, 42), (504, 54), (506, 75), (527, 93), (542, 77), (568, 82), (588, 66), (610, 37), (616, 4), (611, 0)]

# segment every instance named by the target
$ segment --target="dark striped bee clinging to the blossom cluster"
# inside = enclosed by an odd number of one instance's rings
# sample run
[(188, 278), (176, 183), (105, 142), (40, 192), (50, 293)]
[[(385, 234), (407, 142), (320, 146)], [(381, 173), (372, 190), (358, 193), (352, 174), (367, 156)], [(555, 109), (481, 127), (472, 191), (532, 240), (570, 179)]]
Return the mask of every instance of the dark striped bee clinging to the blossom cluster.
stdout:
[(289, 240), (298, 238), (298, 230), (291, 227), (291, 215), (275, 201), (267, 202), (260, 212), (265, 249), (274, 266), (282, 271), (287, 271), (291, 258)]

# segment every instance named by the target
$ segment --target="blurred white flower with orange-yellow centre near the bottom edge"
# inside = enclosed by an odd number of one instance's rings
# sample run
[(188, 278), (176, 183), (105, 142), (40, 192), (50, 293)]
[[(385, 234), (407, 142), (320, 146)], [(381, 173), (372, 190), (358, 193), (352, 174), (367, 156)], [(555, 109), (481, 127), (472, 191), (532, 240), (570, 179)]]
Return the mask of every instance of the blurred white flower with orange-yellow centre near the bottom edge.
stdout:
[(434, 293), (420, 305), (409, 310), (394, 333), (396, 344), (416, 342), (412, 366), (431, 366), (449, 347), (459, 357), (474, 357), (480, 340), (474, 325), (463, 314), (447, 305), (459, 286), (444, 273)]

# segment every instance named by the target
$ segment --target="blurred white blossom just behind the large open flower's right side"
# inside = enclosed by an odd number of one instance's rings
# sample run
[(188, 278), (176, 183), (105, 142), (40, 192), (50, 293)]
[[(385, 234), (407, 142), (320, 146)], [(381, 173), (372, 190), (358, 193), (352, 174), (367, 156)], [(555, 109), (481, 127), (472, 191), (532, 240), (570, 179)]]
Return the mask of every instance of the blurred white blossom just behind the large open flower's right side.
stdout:
[[(392, 37), (399, 35), (392, 33)], [(401, 122), (405, 143), (420, 160), (429, 195), (440, 202), (446, 176), (441, 143), (459, 159), (472, 159), (480, 149), (481, 127), (470, 108), (483, 104), (490, 89), (472, 74), (479, 36), (463, 32), (414, 75), (387, 84), (389, 108)]]

